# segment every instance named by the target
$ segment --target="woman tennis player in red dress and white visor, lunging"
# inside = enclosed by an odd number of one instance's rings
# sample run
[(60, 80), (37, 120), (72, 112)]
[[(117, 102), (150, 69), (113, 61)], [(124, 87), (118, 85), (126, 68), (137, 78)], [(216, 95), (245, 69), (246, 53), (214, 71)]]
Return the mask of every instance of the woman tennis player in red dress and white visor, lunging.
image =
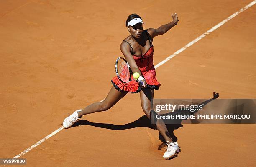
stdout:
[[(110, 89), (105, 100), (88, 105), (83, 110), (76, 110), (72, 115), (65, 118), (63, 121), (64, 128), (71, 127), (83, 115), (110, 109), (128, 92), (140, 93), (142, 109), (150, 119), (154, 112), (151, 108), (154, 90), (159, 89), (161, 85), (156, 79), (156, 71), (153, 65), (154, 49), (152, 42), (154, 37), (165, 34), (177, 25), (178, 21), (177, 14), (175, 13), (174, 15), (172, 14), (172, 22), (161, 25), (157, 29), (149, 28), (143, 30), (141, 17), (137, 14), (129, 15), (126, 20), (126, 27), (130, 35), (121, 42), (120, 50), (130, 65), (132, 72), (140, 74), (138, 80), (143, 82), (143, 85), (139, 85), (135, 80), (123, 83), (117, 76), (113, 77), (111, 80), (113, 87)], [(164, 153), (164, 159), (174, 157), (179, 152), (178, 143), (172, 141), (162, 120), (157, 120), (155, 126), (166, 140), (167, 151)]]

